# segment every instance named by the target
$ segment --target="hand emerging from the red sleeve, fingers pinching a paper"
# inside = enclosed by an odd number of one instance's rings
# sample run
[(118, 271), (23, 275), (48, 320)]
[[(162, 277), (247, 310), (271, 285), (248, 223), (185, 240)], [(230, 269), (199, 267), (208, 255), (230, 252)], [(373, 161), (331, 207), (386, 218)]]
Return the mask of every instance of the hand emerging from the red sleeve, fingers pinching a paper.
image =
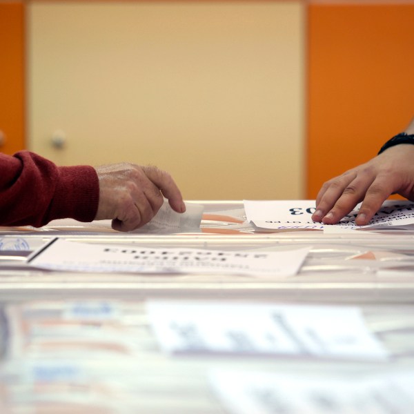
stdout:
[(130, 231), (144, 226), (163, 204), (184, 213), (186, 206), (172, 177), (154, 166), (121, 163), (95, 168), (99, 178), (96, 220), (112, 219), (112, 228)]

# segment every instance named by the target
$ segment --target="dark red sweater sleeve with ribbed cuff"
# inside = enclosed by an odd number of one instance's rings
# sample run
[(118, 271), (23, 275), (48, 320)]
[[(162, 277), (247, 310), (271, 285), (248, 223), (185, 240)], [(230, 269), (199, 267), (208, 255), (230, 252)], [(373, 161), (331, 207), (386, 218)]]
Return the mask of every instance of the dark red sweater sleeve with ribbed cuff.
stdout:
[(40, 227), (53, 219), (92, 221), (99, 181), (91, 166), (58, 167), (29, 151), (0, 154), (0, 225)]

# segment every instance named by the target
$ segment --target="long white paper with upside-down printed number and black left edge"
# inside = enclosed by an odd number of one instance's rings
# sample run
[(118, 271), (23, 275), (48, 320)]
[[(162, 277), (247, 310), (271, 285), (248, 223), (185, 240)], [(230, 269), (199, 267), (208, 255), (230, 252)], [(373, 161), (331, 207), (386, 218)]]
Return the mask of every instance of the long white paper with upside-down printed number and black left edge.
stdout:
[(53, 239), (28, 257), (36, 268), (83, 272), (216, 273), (220, 275), (295, 275), (309, 248), (263, 250), (203, 250), (152, 248), (116, 244), (86, 244)]

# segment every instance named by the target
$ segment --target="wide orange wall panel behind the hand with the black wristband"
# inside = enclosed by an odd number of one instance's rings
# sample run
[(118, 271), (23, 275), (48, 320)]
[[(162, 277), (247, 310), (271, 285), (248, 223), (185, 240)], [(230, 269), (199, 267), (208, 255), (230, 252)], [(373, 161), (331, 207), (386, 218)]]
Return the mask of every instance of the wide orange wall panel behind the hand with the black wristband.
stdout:
[(413, 117), (413, 21), (413, 3), (308, 7), (308, 198)]

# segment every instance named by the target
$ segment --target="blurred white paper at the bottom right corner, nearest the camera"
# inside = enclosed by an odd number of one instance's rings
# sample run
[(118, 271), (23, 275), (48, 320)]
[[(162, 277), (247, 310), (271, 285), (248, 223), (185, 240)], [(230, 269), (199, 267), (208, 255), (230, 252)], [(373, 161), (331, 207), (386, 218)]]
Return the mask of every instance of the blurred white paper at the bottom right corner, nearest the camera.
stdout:
[(210, 384), (233, 414), (412, 413), (414, 372), (282, 375), (211, 371)]

